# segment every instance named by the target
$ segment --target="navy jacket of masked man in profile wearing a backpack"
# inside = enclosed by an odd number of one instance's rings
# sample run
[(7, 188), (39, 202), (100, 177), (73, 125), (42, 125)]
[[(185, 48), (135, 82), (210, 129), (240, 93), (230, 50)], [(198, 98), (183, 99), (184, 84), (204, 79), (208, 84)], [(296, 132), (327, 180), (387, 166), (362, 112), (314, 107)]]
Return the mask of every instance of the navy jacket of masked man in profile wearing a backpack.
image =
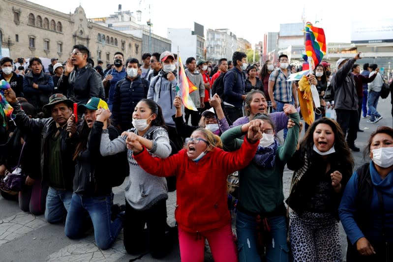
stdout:
[[(235, 74), (238, 74), (237, 76)], [(242, 108), (245, 88), (245, 75), (236, 67), (228, 70), (224, 76), (224, 102), (233, 105), (236, 108)]]

